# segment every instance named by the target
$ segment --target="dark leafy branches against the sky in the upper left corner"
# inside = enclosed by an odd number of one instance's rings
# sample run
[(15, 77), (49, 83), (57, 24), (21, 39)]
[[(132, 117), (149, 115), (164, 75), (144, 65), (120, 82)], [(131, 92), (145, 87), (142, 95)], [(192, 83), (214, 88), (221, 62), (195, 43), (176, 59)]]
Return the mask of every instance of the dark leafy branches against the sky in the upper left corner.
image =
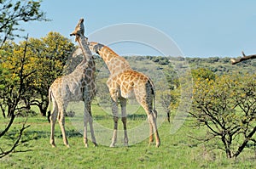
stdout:
[(0, 1), (0, 48), (7, 40), (20, 37), (16, 31), (24, 31), (18, 25), (28, 21), (46, 21), (45, 14), (40, 10), (41, 1)]

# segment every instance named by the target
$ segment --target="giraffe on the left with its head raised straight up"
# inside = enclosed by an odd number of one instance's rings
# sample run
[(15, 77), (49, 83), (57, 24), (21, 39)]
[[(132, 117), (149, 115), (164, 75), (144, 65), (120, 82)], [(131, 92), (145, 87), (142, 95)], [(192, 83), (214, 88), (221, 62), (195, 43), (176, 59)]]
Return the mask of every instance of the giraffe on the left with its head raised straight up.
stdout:
[(84, 59), (73, 70), (72, 73), (67, 76), (61, 76), (51, 84), (49, 87), (49, 102), (53, 103), (53, 110), (50, 115), (51, 134), (50, 144), (55, 147), (55, 121), (58, 118), (61, 126), (61, 132), (63, 142), (67, 147), (67, 135), (65, 131), (65, 112), (67, 105), (71, 101), (84, 101), (84, 145), (88, 147), (87, 138), (87, 125), (89, 123), (91, 140), (96, 146), (96, 138), (92, 125), (91, 117), (91, 101), (96, 93), (96, 84), (94, 78), (94, 72), (96, 70), (95, 61), (92, 58), (92, 54), (88, 47), (87, 38), (84, 37), (84, 19), (80, 19), (75, 31), (70, 36), (76, 36), (76, 42), (79, 42), (79, 46), (82, 49)]

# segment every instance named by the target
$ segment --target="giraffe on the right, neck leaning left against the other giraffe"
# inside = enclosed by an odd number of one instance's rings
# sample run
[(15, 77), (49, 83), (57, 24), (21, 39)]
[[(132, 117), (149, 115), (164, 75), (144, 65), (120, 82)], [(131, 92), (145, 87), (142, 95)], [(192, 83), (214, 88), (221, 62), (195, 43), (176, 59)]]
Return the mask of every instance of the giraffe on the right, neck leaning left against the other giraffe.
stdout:
[[(125, 145), (128, 145), (126, 130), (126, 101), (135, 96), (137, 102), (141, 104), (148, 115), (149, 123), (149, 144), (156, 140), (156, 147), (160, 146), (160, 137), (156, 126), (157, 111), (155, 110), (154, 83), (148, 76), (131, 69), (126, 59), (113, 52), (111, 48), (97, 42), (89, 42), (92, 52), (99, 54), (108, 66), (110, 76), (107, 85), (112, 99), (113, 111), (113, 138), (110, 147), (114, 147), (117, 142), (118, 129), (118, 101), (121, 106), (121, 121), (123, 122)], [(153, 107), (154, 102), (154, 107)]]

